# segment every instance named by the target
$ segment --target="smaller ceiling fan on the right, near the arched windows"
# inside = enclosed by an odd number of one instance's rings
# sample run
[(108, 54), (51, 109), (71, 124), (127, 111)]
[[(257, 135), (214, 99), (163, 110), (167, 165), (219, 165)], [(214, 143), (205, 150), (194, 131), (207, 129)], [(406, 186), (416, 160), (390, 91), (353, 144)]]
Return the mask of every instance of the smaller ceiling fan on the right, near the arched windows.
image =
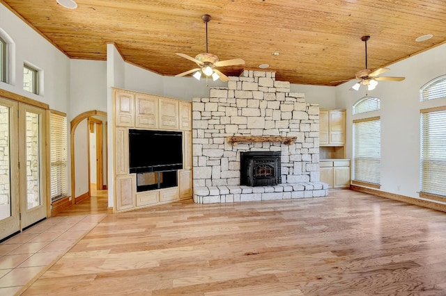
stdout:
[[(382, 76), (380, 77), (380, 74), (383, 74), (387, 71), (389, 71), (389, 68), (379, 68), (375, 71), (371, 71), (367, 67), (367, 41), (370, 39), (370, 36), (362, 36), (361, 40), (364, 41), (365, 44), (365, 69), (362, 69), (358, 72), (356, 72), (355, 77), (356, 79), (360, 79), (359, 82), (357, 82), (355, 85), (353, 85), (350, 90), (359, 90), (361, 85), (367, 85), (367, 90), (374, 90), (376, 88), (376, 85), (378, 85), (378, 81), (403, 81), (405, 77), (390, 77), (390, 76)], [(347, 80), (341, 80), (341, 81), (350, 81), (352, 79)], [(332, 81), (332, 82), (341, 82), (341, 81)]]

